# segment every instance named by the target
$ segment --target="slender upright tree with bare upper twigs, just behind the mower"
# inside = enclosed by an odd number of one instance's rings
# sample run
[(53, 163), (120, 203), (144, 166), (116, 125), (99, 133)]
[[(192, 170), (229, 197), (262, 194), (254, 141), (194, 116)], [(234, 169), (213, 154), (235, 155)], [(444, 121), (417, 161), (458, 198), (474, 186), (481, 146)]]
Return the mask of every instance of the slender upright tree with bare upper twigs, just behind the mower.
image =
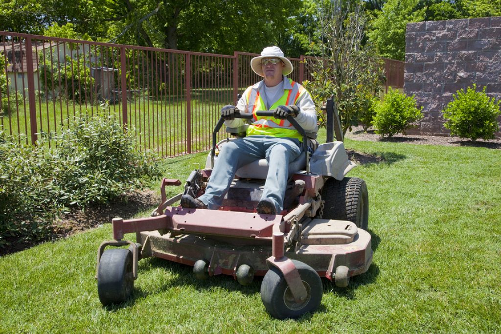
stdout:
[[(368, 100), (380, 90), (381, 60), (370, 43), (364, 45), (367, 18), (361, 2), (317, 0), (316, 6), (319, 42), (312, 43), (321, 54), (309, 64), (313, 80), (305, 86), (317, 106), (334, 96), (346, 133), (358, 125)], [(323, 112), (319, 112), (319, 120), (321, 125), (325, 124)]]

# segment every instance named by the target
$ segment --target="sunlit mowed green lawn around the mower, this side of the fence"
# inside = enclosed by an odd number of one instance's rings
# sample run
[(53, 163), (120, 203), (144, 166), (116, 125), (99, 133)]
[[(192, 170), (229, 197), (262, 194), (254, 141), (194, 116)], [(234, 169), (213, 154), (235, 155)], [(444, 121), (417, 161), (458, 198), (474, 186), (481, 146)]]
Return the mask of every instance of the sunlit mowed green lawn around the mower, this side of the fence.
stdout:
[[(374, 258), (347, 288), (323, 279), (316, 312), (274, 319), (261, 279), (246, 287), (222, 275), (198, 281), (191, 267), (155, 258), (139, 262), (128, 302), (103, 307), (94, 275), (97, 247), (111, 238), (105, 224), (0, 258), (0, 332), (501, 331), (501, 151), (345, 145), (384, 158), (349, 174), (368, 184)], [(205, 157), (167, 159), (166, 176), (183, 180)]]

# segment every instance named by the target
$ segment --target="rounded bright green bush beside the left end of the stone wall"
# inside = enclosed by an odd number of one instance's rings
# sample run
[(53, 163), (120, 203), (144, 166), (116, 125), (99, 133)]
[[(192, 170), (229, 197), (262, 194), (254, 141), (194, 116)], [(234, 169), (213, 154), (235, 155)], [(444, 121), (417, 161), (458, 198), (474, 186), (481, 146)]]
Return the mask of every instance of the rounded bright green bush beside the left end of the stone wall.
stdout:
[(376, 133), (381, 136), (392, 137), (394, 134), (405, 134), (411, 123), (423, 117), (421, 110), (416, 106), (414, 95), (405, 96), (398, 90), (389, 89), (384, 100), (375, 106), (374, 126)]

